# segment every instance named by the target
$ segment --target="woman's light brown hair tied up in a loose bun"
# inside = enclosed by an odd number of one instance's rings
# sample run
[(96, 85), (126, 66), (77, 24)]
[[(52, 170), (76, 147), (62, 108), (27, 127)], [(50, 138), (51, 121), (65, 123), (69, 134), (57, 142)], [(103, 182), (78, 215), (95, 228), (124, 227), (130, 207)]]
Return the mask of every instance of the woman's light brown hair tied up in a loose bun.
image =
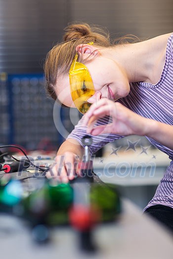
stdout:
[[(47, 53), (44, 63), (46, 92), (54, 100), (57, 99), (55, 85), (58, 80), (58, 76), (61, 74), (68, 74), (76, 54), (76, 47), (79, 44), (85, 44), (91, 41), (93, 41), (96, 46), (100, 47), (110, 47), (115, 44), (115, 42), (111, 43), (107, 30), (96, 26), (89, 26), (87, 23), (73, 23), (67, 26), (64, 30), (65, 34), (63, 42), (57, 43), (53, 46), (53, 48)], [(123, 39), (124, 43), (127, 43), (126, 39)], [(123, 42), (119, 43), (122, 44)]]

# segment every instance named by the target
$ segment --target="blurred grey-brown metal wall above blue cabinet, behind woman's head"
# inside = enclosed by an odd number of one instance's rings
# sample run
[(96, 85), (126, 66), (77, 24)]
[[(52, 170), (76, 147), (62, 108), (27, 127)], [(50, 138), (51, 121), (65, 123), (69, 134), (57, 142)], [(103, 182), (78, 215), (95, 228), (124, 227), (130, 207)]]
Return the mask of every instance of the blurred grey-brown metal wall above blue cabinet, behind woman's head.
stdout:
[(71, 21), (107, 27), (111, 36), (173, 31), (172, 0), (0, 0), (0, 72), (43, 71), (53, 42)]

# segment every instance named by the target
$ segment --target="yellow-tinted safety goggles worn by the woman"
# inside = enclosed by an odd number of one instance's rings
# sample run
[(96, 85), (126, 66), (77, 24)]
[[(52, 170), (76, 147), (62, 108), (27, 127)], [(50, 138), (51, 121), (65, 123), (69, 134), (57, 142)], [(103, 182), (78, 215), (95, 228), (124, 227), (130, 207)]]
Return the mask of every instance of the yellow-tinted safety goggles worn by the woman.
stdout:
[[(88, 44), (92, 45), (93, 42)], [(69, 70), (70, 91), (76, 108), (84, 114), (91, 106), (87, 100), (95, 93), (95, 90), (87, 67), (77, 60), (78, 53), (76, 53)]]

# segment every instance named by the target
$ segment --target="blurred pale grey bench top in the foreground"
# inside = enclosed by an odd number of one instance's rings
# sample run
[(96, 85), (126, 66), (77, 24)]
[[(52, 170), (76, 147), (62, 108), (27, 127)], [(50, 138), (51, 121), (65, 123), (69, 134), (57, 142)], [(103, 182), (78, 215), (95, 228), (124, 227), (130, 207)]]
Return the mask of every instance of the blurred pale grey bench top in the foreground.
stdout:
[(117, 222), (98, 225), (93, 231), (95, 254), (79, 250), (77, 233), (70, 227), (55, 227), (51, 241), (37, 245), (31, 231), (16, 218), (0, 215), (0, 254), (6, 259), (172, 259), (170, 233), (123, 199), (123, 213)]

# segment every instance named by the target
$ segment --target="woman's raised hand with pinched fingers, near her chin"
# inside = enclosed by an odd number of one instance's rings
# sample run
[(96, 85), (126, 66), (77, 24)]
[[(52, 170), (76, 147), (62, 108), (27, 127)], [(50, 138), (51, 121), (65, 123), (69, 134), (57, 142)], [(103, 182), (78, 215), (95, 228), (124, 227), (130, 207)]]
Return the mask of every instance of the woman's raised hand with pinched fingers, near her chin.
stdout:
[[(110, 115), (112, 123), (94, 126), (97, 119)], [(92, 104), (84, 115), (83, 126), (87, 126), (87, 133), (99, 135), (102, 133), (115, 133), (123, 136), (147, 134), (147, 118), (144, 118), (119, 102), (113, 102), (107, 98), (100, 99)]]

